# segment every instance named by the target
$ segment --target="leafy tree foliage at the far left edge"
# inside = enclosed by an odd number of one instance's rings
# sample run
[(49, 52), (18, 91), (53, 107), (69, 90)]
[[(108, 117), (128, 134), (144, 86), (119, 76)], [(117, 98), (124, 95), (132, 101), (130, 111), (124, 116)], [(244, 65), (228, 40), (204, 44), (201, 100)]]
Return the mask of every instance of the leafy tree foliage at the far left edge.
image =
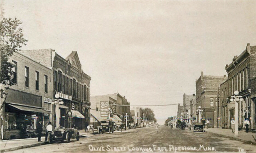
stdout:
[(27, 42), (24, 37), (23, 30), (20, 27), (21, 21), (18, 19), (3, 18), (0, 22), (0, 53), (1, 53), (1, 75), (0, 83), (4, 85), (13, 85), (12, 75), (14, 67), (9, 62), (9, 57), (14, 52), (19, 51), (21, 46)]

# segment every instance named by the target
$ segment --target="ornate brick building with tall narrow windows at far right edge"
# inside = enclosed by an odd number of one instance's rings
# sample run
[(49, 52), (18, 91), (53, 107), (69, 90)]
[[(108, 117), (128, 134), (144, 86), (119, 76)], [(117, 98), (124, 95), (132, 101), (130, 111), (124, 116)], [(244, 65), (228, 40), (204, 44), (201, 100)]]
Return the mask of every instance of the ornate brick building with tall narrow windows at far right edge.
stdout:
[[(247, 44), (245, 51), (241, 55), (235, 56), (229, 65), (226, 65), (228, 72), (228, 96), (239, 91), (243, 101), (238, 104), (238, 123), (243, 125), (246, 118), (251, 125), (249, 128), (255, 129), (255, 77), (256, 77), (256, 46)], [(228, 103), (230, 101), (228, 100)], [(229, 110), (229, 119), (233, 117), (234, 109)], [(245, 125), (243, 125), (245, 127)]]

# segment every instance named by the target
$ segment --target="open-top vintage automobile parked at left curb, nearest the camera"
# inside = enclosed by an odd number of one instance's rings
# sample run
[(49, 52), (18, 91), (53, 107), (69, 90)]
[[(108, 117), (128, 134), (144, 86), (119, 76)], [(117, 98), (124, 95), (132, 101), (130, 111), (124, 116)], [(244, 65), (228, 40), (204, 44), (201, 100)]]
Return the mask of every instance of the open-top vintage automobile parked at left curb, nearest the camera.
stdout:
[(80, 139), (79, 132), (74, 128), (64, 128), (60, 126), (57, 130), (48, 134), (49, 143), (64, 142), (64, 140), (69, 143), (71, 138), (75, 138), (78, 141)]

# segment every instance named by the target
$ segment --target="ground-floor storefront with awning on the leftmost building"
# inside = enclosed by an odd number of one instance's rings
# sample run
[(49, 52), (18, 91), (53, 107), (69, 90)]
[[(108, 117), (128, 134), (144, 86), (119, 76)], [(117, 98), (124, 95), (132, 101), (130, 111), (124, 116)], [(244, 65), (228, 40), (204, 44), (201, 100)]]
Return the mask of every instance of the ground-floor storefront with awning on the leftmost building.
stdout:
[(9, 89), (4, 105), (2, 127), (3, 139), (29, 137), (27, 131), (36, 131), (36, 122), (44, 121), (44, 114), (50, 114), (42, 108), (42, 97), (31, 93)]

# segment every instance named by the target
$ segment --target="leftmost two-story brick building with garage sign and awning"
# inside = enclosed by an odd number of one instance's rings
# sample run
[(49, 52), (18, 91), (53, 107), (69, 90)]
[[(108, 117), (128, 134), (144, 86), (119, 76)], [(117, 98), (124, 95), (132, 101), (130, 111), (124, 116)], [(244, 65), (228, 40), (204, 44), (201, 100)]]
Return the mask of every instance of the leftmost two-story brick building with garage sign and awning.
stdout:
[[(1, 116), (1, 139), (27, 138), (26, 130), (36, 131), (36, 122), (50, 121), (53, 98), (53, 70), (15, 52), (14, 85), (6, 90), (7, 98)], [(45, 131), (45, 128), (44, 128)]]

